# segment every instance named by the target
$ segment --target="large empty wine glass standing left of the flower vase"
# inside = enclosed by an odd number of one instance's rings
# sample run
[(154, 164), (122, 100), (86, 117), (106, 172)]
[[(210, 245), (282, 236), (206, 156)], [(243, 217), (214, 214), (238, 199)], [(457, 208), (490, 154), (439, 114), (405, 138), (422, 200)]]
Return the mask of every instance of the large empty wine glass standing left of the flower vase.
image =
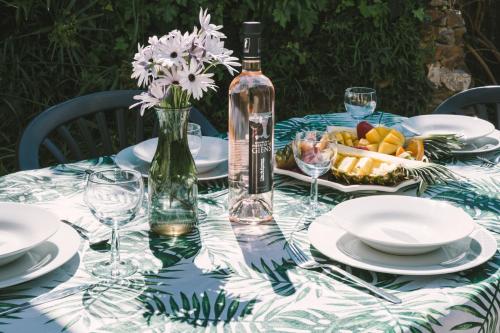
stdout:
[(111, 227), (111, 260), (94, 265), (92, 273), (103, 278), (125, 278), (137, 267), (130, 260), (120, 259), (118, 229), (138, 213), (144, 185), (141, 174), (132, 170), (109, 169), (90, 174), (84, 201), (99, 221)]

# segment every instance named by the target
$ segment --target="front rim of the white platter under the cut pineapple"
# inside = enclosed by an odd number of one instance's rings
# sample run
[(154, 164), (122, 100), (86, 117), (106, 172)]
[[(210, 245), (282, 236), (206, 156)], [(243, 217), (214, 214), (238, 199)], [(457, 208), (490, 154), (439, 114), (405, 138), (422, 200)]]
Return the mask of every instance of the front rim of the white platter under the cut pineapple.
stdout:
[[(310, 183), (312, 181), (312, 178), (309, 176), (304, 175), (303, 173), (300, 172), (295, 172), (292, 170), (285, 170), (285, 169), (280, 169), (280, 168), (274, 168), (274, 173), (277, 173), (278, 175), (285, 175), (285, 176), (290, 176), (292, 178), (302, 180), (305, 182)], [(417, 179), (408, 179), (405, 180), (395, 186), (382, 186), (382, 185), (344, 185), (341, 183), (335, 183), (331, 182), (329, 180), (321, 179), (318, 178), (318, 184), (323, 185), (326, 187), (330, 187), (342, 192), (397, 192), (403, 188), (412, 186), (417, 184), (419, 181)]]

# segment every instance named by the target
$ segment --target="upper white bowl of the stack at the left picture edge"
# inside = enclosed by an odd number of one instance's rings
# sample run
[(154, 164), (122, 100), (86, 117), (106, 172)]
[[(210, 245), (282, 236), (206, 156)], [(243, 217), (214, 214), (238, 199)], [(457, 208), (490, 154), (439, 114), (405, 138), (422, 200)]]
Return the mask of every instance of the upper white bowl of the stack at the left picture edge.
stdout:
[(0, 203), (0, 265), (5, 265), (52, 236), (59, 228), (46, 209), (15, 202)]

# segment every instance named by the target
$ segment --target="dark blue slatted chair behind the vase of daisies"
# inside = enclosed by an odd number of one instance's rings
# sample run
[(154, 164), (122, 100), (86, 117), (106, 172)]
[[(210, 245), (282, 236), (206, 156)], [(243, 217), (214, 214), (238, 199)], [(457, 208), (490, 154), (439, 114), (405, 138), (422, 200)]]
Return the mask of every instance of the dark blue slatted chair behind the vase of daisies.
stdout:
[[(55, 162), (66, 163), (112, 155), (131, 144), (156, 136), (158, 124), (154, 112), (146, 112), (147, 115), (141, 117), (138, 110), (129, 110), (129, 106), (136, 102), (133, 97), (140, 92), (98, 92), (43, 111), (28, 124), (21, 137), (18, 147), (19, 169), (40, 168), (42, 146)], [(199, 124), (205, 136), (219, 134), (195, 108), (191, 109), (190, 121)], [(127, 123), (133, 123), (133, 126), (127, 127)], [(145, 136), (148, 130), (150, 135)]]

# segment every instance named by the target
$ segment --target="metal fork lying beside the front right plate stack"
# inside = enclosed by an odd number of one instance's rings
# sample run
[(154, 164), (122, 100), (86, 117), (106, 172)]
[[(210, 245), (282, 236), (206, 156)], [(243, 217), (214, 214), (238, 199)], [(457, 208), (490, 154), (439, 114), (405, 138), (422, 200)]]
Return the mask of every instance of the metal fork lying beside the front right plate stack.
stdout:
[(397, 298), (396, 296), (389, 294), (382, 289), (375, 287), (374, 285), (361, 280), (360, 278), (352, 275), (351, 273), (344, 271), (343, 269), (335, 266), (335, 265), (328, 265), (328, 264), (321, 264), (314, 260), (313, 258), (308, 258), (306, 254), (299, 249), (293, 242), (289, 241), (288, 242), (288, 247), (287, 247), (287, 252), (292, 258), (292, 260), (299, 266), (300, 268), (303, 269), (321, 269), (322, 271), (326, 273), (340, 273), (343, 276), (349, 278), (350, 280), (356, 282), (357, 284), (361, 285), (362, 287), (368, 289), (375, 295), (391, 302), (394, 304), (400, 304), (402, 303), (401, 299)]

